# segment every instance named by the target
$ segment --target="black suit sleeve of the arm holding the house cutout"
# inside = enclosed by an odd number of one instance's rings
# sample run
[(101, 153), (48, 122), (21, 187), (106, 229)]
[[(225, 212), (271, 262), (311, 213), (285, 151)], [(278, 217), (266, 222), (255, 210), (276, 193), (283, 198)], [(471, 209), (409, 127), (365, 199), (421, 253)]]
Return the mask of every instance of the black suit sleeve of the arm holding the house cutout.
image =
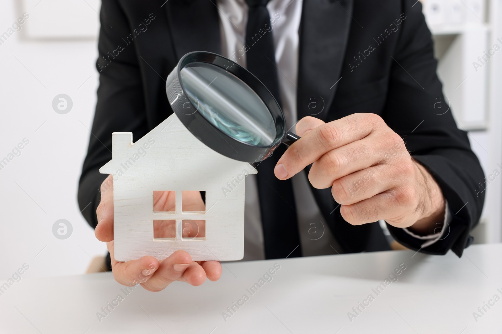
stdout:
[(122, 40), (131, 33), (130, 24), (115, 0), (102, 1), (100, 17), (96, 112), (78, 187), (80, 209), (92, 227), (97, 225), (99, 189), (107, 176), (99, 168), (111, 160), (112, 132), (133, 132), (139, 138), (148, 132), (135, 45)]

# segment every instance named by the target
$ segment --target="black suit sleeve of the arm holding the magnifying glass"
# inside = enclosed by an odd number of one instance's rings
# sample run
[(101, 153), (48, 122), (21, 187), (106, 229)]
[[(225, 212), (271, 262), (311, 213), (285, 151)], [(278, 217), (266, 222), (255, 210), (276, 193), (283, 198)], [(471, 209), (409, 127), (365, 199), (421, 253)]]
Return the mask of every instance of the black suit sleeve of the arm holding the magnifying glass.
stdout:
[(467, 132), (457, 128), (436, 75), (431, 34), (416, 0), (403, 0), (403, 14), (389, 83), (384, 120), (400, 134), (412, 157), (425, 166), (448, 202), (451, 221), (440, 240), (423, 247), (423, 240), (388, 224), (392, 236), (408, 248), (428, 254), (458, 256), (472, 243), (484, 194), (478, 193), (484, 174), (469, 144)]

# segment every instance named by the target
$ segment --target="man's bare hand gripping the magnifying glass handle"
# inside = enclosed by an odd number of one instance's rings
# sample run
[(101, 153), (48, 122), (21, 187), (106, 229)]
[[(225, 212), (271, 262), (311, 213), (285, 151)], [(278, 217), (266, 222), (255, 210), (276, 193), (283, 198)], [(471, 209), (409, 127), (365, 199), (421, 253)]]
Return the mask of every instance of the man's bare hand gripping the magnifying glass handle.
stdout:
[(425, 235), (443, 221), (441, 189), (380, 116), (358, 113), (329, 123), (305, 117), (296, 133), (302, 138), (279, 159), (275, 175), (285, 180), (312, 164), (310, 183), (331, 187), (350, 224), (384, 219)]

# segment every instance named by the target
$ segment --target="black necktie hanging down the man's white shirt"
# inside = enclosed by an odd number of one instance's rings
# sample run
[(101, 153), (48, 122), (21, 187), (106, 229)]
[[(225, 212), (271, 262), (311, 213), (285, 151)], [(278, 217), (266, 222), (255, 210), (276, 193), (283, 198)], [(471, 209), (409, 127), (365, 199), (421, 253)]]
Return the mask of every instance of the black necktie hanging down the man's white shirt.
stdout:
[[(266, 7), (268, 0), (246, 0), (246, 3), (249, 7), (245, 40), (247, 70), (260, 79), (281, 105), (273, 26)], [(274, 175), (274, 167), (284, 151), (281, 145), (257, 168), (267, 259), (302, 256), (293, 185), (291, 180), (281, 181)]]

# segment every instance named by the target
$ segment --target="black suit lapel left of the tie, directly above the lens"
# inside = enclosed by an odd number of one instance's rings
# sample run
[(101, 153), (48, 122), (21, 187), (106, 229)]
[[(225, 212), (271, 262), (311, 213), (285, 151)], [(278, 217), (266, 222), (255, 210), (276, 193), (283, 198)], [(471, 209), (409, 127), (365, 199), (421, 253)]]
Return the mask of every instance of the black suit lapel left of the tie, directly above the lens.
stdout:
[(219, 17), (215, 0), (170, 0), (164, 7), (177, 60), (192, 51), (221, 54)]

